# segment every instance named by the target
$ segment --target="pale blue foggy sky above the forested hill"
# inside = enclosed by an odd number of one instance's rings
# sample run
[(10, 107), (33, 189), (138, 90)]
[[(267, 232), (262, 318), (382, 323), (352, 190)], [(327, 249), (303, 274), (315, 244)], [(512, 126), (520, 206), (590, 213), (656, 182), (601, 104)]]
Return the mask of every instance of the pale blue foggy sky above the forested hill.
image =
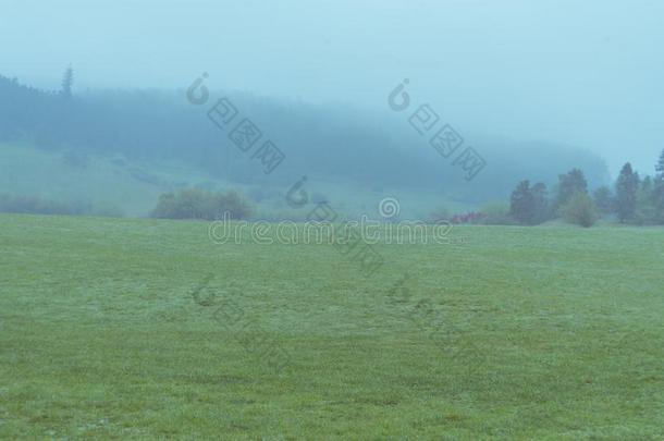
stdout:
[[(119, 4), (121, 3), (121, 4)], [(0, 74), (59, 88), (210, 86), (390, 114), (404, 78), (463, 133), (591, 149), (615, 176), (664, 148), (664, 2), (0, 1)], [(472, 143), (472, 139), (468, 139)], [(481, 148), (481, 146), (478, 146)]]

